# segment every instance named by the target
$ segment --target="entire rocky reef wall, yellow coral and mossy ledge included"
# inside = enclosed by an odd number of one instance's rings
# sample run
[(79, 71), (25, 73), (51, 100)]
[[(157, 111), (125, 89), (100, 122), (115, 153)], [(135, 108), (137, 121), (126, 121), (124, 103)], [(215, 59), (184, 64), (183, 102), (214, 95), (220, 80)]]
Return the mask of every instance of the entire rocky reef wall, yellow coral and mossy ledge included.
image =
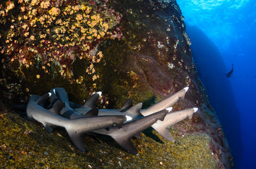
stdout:
[[(232, 168), (228, 142), (198, 79), (176, 1), (72, 4), (50, 0), (59, 10), (40, 3), (1, 2), (1, 168)], [(26, 8), (37, 10), (35, 18), (49, 14), (45, 17), (52, 17), (53, 23), (44, 27), (39, 19), (23, 16), (19, 20)], [(77, 18), (80, 15), (85, 23)], [(58, 19), (69, 20), (75, 27), (60, 25), (54, 21)], [(63, 27), (69, 30), (63, 32)], [(45, 36), (45, 41), (31, 35)], [(29, 94), (44, 94), (53, 87), (64, 87), (69, 99), (80, 104), (92, 92), (102, 91), (100, 108), (120, 108), (130, 97), (147, 108), (186, 86), (190, 89), (185, 99), (173, 106), (174, 111), (191, 107), (199, 111), (191, 120), (170, 127), (174, 143), (165, 141), (152, 128), (144, 131), (141, 139), (132, 139), (137, 156), (124, 151), (110, 137), (98, 135), (84, 136), (83, 154), (64, 130), (48, 133), (40, 123), (25, 120), (21, 112), (9, 108), (25, 103)]]

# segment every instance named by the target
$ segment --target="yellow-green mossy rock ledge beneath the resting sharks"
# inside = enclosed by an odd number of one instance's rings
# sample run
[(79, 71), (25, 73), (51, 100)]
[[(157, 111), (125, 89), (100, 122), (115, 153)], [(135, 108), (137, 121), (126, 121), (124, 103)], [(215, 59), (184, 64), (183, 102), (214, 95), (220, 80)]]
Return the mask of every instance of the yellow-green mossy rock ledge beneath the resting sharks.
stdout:
[(207, 134), (178, 136), (172, 128), (176, 142), (170, 143), (149, 129), (132, 139), (136, 156), (110, 137), (85, 135), (86, 152), (81, 153), (64, 130), (48, 133), (40, 123), (1, 106), (1, 168), (218, 168)]

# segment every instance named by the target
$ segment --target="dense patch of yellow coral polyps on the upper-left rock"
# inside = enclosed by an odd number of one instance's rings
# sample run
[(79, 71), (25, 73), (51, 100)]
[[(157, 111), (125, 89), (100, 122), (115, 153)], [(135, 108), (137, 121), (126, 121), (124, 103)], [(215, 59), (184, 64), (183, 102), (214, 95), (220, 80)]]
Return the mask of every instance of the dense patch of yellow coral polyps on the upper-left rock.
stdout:
[[(0, 7), (0, 19), (10, 16), (8, 10), (11, 10), (14, 4), (13, 0), (7, 1), (7, 7)], [(72, 4), (71, 0), (65, 1), (66, 4)], [(8, 57), (12, 56), (13, 61), (17, 59), (26, 67), (34, 64), (33, 59), (35, 62), (45, 61), (45, 64), (54, 63), (60, 68), (58, 72), (69, 79), (73, 76), (72, 65), (67, 64), (62, 67), (64, 59), (71, 63), (75, 58), (86, 58), (91, 63), (98, 63), (103, 58), (101, 51), (95, 54), (97, 51), (95, 45), (98, 45), (103, 37), (110, 35), (107, 30), (117, 23), (117, 17), (113, 15), (115, 12), (108, 11), (104, 2), (99, 1), (96, 6), (88, 1), (77, 1), (76, 5), (69, 6), (54, 0), (18, 0), (18, 3), (21, 13), (17, 18), (6, 19), (9, 30), (5, 39), (0, 37), (6, 42), (1, 48), (1, 53)], [(106, 10), (102, 10), (103, 8)], [(21, 50), (16, 51), (16, 46), (21, 47)], [(28, 57), (30, 50), (26, 48), (28, 46), (37, 46), (40, 49), (33, 51), (36, 54), (35, 58), (33, 58), (34, 54)], [(74, 48), (74, 54), (69, 53), (71, 47)], [(76, 49), (81, 50), (79, 56), (76, 54)], [(30, 59), (27, 61), (25, 58)], [(42, 65), (42, 69), (45, 72), (52, 71), (45, 65)], [(89, 65), (86, 73), (91, 75), (93, 80), (98, 78), (94, 75), (93, 64)], [(72, 82), (82, 81), (83, 79), (79, 77)]]

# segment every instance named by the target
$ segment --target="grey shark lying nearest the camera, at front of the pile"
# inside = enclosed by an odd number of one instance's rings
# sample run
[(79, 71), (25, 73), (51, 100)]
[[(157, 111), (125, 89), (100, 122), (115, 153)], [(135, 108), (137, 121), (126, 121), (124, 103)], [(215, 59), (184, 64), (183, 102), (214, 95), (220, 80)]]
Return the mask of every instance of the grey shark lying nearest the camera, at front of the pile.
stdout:
[(64, 127), (68, 132), (71, 142), (81, 151), (85, 152), (85, 146), (81, 134), (99, 130), (116, 125), (121, 127), (126, 117), (124, 115), (103, 115), (103, 116), (84, 116), (81, 118), (68, 119), (58, 115), (58, 111), (64, 108), (65, 104), (55, 104), (50, 109), (40, 106), (52, 94), (49, 92), (42, 96), (32, 95), (26, 107), (26, 113), (30, 120), (37, 120), (44, 125), (47, 132), (52, 132), (52, 127)]

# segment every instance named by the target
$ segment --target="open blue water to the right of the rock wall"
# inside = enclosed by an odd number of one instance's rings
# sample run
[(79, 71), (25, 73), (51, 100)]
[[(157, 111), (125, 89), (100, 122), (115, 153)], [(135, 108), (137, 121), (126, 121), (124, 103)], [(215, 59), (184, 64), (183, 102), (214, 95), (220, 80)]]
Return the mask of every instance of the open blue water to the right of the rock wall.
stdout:
[[(256, 168), (256, 1), (177, 0), (235, 168)], [(234, 65), (233, 75), (226, 73)]]

